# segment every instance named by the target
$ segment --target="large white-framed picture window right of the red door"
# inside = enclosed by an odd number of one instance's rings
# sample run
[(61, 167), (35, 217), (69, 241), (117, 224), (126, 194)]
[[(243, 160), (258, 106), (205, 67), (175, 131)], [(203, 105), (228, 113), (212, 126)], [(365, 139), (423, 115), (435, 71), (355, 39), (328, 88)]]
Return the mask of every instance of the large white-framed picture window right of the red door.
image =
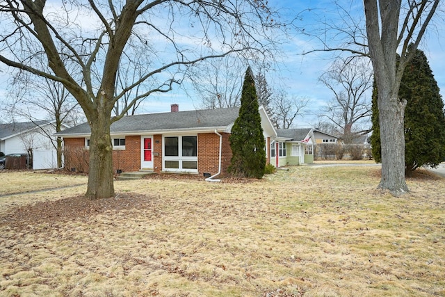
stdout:
[(163, 170), (197, 172), (197, 136), (165, 136), (163, 152)]

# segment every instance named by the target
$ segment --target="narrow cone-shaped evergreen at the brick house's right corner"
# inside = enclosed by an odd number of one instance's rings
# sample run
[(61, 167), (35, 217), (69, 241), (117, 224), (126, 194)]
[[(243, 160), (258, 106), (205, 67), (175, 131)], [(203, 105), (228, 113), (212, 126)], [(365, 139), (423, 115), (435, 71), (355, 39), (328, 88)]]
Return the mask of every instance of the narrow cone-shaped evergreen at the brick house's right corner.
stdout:
[(239, 115), (229, 137), (232, 148), (229, 172), (233, 175), (256, 178), (264, 175), (266, 152), (258, 109), (257, 90), (252, 70), (248, 67), (244, 77)]

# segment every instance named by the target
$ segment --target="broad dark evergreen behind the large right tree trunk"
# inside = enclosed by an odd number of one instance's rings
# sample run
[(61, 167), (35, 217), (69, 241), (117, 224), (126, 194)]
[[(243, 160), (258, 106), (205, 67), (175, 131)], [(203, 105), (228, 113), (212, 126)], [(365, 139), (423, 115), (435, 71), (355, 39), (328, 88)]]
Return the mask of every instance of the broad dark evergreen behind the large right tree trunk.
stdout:
[[(375, 105), (376, 95), (375, 92)], [(436, 167), (445, 158), (444, 103), (423, 51), (416, 50), (414, 58), (405, 68), (398, 95), (407, 100), (404, 120), (405, 174), (410, 175), (423, 165)], [(373, 121), (375, 127), (378, 127), (378, 120), (376, 123)], [(377, 133), (374, 130), (371, 144), (375, 145), (375, 161), (380, 161), (380, 134), (377, 134), (378, 130)]]

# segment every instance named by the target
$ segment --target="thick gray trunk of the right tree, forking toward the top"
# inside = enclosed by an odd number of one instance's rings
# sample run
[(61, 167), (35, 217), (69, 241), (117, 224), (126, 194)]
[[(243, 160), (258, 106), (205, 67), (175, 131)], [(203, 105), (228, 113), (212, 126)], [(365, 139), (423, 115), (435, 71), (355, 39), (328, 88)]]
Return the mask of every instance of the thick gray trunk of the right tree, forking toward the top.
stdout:
[(403, 128), (406, 102), (398, 98), (401, 77), (397, 75), (396, 67), (401, 2), (364, 0), (364, 10), (369, 55), (378, 88), (382, 144), (382, 177), (378, 188), (389, 190), (393, 195), (401, 195), (409, 191), (405, 182)]

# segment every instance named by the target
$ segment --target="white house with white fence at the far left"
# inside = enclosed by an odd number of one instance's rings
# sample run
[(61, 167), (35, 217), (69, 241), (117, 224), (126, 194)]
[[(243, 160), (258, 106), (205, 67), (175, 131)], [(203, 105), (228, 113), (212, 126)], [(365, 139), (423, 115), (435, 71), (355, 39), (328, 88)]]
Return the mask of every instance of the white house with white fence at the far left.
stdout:
[(33, 169), (55, 168), (55, 133), (54, 122), (48, 121), (0, 124), (0, 152), (6, 155), (32, 152)]

